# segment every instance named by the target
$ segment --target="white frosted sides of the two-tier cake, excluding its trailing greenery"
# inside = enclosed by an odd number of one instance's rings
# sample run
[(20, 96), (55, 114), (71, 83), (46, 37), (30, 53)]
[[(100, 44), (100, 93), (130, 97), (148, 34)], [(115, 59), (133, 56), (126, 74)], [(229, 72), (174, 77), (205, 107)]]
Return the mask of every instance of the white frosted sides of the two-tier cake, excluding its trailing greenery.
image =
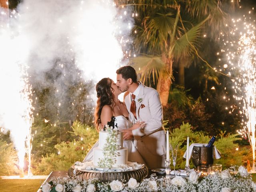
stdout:
[[(99, 147), (93, 149), (93, 165), (98, 166), (98, 161), (100, 158), (104, 158), (103, 148), (107, 144), (106, 143), (107, 132), (100, 131), (99, 134)], [(120, 166), (122, 164), (127, 164), (128, 162), (128, 148), (123, 147), (123, 133), (118, 132), (118, 136), (116, 138), (116, 142), (119, 146), (117, 150), (118, 156), (115, 157), (116, 162), (113, 164), (113, 167)]]

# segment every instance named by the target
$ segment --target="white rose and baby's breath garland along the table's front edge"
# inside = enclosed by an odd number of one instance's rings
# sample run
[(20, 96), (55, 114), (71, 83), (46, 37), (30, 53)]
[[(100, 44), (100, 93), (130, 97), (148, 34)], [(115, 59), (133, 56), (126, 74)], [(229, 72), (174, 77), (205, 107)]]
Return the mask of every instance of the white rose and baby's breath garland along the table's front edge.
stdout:
[(42, 192), (256, 192), (256, 184), (243, 166), (220, 173), (200, 177), (200, 173), (192, 170), (189, 178), (176, 176), (173, 179), (157, 179), (156, 174), (138, 183), (130, 178), (127, 183), (113, 180), (99, 182), (97, 179), (80, 180), (72, 178), (53, 178), (50, 183), (42, 186)]

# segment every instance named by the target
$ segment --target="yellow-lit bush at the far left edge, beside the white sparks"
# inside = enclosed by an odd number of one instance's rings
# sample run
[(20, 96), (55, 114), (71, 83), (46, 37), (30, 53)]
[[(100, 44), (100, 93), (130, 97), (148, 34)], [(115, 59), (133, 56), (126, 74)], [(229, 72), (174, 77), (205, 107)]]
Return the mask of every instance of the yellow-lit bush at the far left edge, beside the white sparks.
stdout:
[(0, 175), (13, 175), (19, 173), (16, 163), (18, 162), (17, 152), (13, 144), (8, 144), (0, 139)]

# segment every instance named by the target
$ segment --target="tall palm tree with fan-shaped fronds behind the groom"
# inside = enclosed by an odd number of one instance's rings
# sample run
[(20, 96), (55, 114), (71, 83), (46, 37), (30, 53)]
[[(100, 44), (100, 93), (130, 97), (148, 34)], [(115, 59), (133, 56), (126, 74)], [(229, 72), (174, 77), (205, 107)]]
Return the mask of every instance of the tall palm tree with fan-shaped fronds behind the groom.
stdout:
[[(182, 59), (188, 60), (196, 54), (202, 30), (206, 26), (219, 29), (226, 24), (228, 15), (220, 9), (221, 0), (134, 0), (134, 4), (124, 4), (129, 5), (139, 13), (132, 35), (134, 47), (140, 54), (130, 63), (142, 82), (153, 78), (166, 106), (173, 63), (181, 63)], [(184, 66), (182, 69), (184, 71)]]

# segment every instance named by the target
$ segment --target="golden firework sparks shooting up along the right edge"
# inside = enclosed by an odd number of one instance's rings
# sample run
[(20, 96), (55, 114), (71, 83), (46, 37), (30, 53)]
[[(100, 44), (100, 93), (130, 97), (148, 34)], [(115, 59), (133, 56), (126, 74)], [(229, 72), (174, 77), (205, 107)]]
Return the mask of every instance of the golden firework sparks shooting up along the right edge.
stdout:
[[(249, 12), (250, 14), (251, 12)], [(222, 35), (224, 49), (222, 56), (226, 56), (226, 63), (222, 70), (232, 77), (235, 94), (233, 97), (240, 106), (242, 116), (239, 134), (248, 138), (251, 148), (253, 162), (255, 162), (256, 147), (256, 40), (255, 40), (255, 20), (249, 17), (232, 19), (232, 28), (229, 40)], [(219, 55), (220, 53), (217, 53)]]

